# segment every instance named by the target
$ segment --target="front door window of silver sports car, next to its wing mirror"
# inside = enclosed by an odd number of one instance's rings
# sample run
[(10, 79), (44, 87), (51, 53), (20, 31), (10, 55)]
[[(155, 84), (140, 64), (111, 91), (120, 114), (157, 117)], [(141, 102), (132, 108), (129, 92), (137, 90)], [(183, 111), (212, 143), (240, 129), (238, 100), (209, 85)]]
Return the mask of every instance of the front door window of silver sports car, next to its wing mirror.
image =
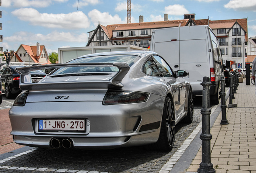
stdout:
[(172, 77), (172, 70), (171, 67), (160, 57), (160, 56), (153, 56), (157, 67), (163, 77)]

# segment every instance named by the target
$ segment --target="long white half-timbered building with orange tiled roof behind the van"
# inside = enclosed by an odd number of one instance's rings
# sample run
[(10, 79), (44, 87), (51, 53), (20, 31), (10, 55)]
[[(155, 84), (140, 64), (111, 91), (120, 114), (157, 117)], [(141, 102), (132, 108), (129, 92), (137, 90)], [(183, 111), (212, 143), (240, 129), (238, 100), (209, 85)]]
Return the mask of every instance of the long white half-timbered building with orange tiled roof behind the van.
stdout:
[(244, 66), (248, 41), (247, 18), (195, 20), (195, 14), (185, 14), (182, 20), (168, 20), (167, 14), (165, 14), (165, 21), (143, 22), (143, 16), (140, 16), (139, 23), (107, 26), (99, 24), (95, 30), (89, 32), (87, 46), (132, 44), (148, 48), (153, 30), (192, 25), (209, 25), (219, 39), (224, 62), (231, 61), (233, 67), (236, 62), (239, 63), (238, 66)]

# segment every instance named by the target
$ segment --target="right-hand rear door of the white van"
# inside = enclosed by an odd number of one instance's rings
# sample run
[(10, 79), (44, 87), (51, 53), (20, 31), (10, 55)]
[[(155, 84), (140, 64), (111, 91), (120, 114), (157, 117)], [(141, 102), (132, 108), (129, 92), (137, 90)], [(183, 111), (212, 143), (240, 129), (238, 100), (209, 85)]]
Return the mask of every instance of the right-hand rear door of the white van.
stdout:
[(205, 26), (180, 27), (180, 69), (189, 72), (194, 95), (201, 95), (200, 83), (210, 76), (209, 44)]

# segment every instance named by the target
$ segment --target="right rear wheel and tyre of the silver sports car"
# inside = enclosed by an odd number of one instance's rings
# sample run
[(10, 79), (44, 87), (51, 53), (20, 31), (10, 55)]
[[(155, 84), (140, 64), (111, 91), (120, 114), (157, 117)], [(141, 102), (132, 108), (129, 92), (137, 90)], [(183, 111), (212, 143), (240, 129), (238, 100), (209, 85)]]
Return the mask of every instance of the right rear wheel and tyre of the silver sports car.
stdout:
[(175, 141), (175, 114), (173, 102), (169, 97), (165, 99), (159, 138), (156, 143), (148, 145), (147, 149), (157, 151), (171, 151)]

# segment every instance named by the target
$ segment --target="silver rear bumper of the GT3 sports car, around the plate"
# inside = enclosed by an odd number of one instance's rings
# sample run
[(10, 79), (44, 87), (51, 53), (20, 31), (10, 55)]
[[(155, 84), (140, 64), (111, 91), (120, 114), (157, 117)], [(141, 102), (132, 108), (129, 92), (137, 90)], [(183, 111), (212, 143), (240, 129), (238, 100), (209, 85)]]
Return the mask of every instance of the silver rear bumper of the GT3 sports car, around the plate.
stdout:
[[(12, 106), (9, 118), (14, 142), (50, 148), (52, 138), (72, 141), (74, 148), (115, 148), (157, 141), (165, 98), (152, 95), (147, 102), (102, 105), (100, 101), (26, 103)], [(29, 111), (28, 111), (29, 110)], [(87, 119), (84, 133), (39, 132), (38, 119)]]

